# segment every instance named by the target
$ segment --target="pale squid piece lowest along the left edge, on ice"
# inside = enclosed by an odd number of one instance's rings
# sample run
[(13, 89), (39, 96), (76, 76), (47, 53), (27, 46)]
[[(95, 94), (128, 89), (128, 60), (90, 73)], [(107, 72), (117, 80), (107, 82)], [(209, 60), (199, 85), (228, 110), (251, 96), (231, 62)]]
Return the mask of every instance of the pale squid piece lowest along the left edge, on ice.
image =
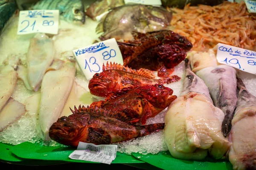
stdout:
[(9, 98), (6, 105), (0, 111), (0, 132), (13, 124), (26, 112), (25, 106), (13, 98)]

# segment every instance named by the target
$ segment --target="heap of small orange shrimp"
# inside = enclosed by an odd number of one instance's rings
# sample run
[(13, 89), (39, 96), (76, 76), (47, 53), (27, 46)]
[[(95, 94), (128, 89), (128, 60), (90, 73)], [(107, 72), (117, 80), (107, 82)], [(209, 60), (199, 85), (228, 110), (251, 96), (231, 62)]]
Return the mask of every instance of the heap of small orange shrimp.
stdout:
[(218, 43), (256, 51), (256, 17), (242, 3), (224, 1), (217, 6), (172, 8), (173, 30), (188, 38), (196, 51), (207, 51)]

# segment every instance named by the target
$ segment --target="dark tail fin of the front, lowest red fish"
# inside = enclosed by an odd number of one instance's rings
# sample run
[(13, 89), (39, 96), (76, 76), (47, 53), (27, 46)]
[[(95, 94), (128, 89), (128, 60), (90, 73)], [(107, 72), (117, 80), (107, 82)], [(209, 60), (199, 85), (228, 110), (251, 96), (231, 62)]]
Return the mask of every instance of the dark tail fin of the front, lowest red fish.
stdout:
[(154, 132), (158, 132), (160, 130), (163, 130), (163, 128), (164, 128), (164, 123), (148, 124), (148, 125), (136, 127), (136, 129), (140, 131), (140, 136), (145, 136)]

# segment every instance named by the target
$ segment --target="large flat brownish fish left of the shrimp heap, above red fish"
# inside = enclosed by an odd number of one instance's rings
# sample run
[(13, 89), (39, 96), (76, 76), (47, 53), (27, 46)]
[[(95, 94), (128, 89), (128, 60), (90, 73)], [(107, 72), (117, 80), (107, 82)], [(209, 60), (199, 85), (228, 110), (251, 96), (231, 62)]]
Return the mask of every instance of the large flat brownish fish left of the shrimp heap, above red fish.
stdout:
[(170, 25), (172, 12), (163, 7), (145, 5), (123, 5), (111, 9), (96, 28), (96, 32), (104, 32), (105, 39), (127, 40), (131, 32), (146, 33), (166, 29)]

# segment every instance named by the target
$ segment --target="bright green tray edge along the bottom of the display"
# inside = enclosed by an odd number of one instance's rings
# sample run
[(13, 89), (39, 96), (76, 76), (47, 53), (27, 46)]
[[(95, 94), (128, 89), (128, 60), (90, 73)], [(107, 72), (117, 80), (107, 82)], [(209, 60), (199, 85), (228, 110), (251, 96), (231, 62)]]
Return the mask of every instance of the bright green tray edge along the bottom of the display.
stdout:
[[(70, 159), (68, 156), (74, 147), (47, 147), (42, 144), (23, 142), (17, 145), (0, 143), (0, 159), (5, 162), (27, 165), (61, 164), (64, 162), (96, 163)], [(232, 170), (232, 164), (226, 160), (216, 161), (205, 158), (202, 161), (185, 161), (173, 158), (168, 151), (157, 154), (131, 155), (117, 152), (112, 164), (132, 164), (134, 167), (164, 170)], [(155, 168), (154, 168), (155, 167)]]

